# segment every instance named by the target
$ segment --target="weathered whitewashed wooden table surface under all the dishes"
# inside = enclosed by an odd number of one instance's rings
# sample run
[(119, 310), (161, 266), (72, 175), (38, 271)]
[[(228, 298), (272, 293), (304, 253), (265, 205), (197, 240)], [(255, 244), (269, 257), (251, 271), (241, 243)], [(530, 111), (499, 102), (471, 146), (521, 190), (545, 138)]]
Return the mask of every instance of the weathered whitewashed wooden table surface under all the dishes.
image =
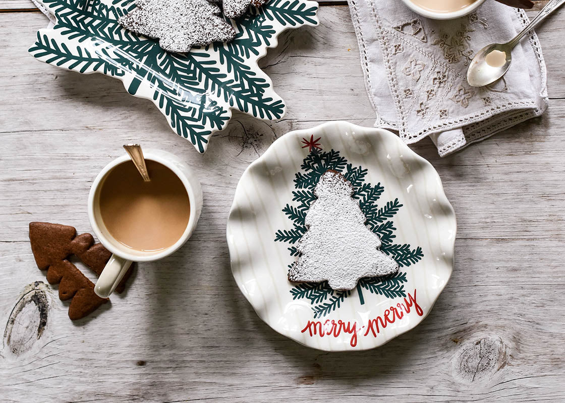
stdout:
[[(236, 113), (205, 155), (119, 81), (33, 60), (47, 19), (30, 7), (0, 0), (1, 402), (565, 400), (565, 10), (538, 29), (544, 116), (444, 159), (427, 140), (413, 147), (440, 173), (459, 224), (432, 313), (382, 348), (325, 353), (260, 321), (232, 278), (225, 225), (243, 170), (276, 137), (334, 119), (373, 124), (347, 6), (322, 7), (319, 27), (286, 32), (261, 61), (286, 117)], [(28, 223), (91, 231), (90, 184), (132, 141), (189, 161), (201, 221), (175, 255), (140, 265), (125, 295), (71, 322), (34, 264)]]

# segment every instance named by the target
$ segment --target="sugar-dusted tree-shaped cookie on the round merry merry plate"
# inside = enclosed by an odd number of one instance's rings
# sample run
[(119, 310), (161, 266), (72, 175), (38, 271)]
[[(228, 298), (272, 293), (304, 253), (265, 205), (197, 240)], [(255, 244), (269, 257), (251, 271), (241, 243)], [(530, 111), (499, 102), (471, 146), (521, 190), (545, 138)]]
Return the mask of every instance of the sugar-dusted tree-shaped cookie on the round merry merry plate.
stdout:
[(366, 217), (351, 196), (353, 186), (328, 170), (314, 189), (318, 198), (306, 213), (301, 253), (288, 271), (293, 282), (328, 281), (334, 290), (352, 290), (360, 278), (396, 273), (398, 264), (380, 251), (379, 236), (365, 226)]

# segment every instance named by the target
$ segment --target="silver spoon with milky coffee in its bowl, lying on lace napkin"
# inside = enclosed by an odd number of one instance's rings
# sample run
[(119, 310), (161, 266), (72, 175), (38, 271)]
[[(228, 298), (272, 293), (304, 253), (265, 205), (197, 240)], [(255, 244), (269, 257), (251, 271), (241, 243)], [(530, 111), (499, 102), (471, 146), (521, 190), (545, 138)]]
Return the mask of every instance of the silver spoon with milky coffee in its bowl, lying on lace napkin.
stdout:
[(536, 27), (545, 17), (562, 6), (563, 3), (565, 3), (565, 0), (550, 0), (542, 8), (540, 14), (536, 15), (531, 23), (512, 40), (506, 43), (492, 43), (479, 50), (467, 69), (467, 82), (469, 85), (472, 87), (482, 87), (492, 84), (498, 78), (505, 75), (512, 62), (511, 52), (514, 46), (518, 45), (521, 38)]

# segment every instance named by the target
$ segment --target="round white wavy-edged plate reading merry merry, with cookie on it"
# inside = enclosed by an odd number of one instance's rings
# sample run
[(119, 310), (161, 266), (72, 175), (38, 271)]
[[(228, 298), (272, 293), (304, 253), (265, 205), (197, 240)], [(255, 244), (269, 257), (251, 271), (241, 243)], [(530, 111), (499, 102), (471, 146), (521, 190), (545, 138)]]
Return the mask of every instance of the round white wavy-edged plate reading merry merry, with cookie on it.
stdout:
[[(328, 173), (345, 192), (320, 192)], [(386, 130), (331, 122), (285, 134), (246, 169), (227, 238), (233, 276), (268, 325), (308, 347), (348, 351), (427, 316), (453, 270), (455, 232), (431, 164)], [(372, 271), (379, 260), (383, 270)], [(332, 288), (328, 270), (354, 281)]]

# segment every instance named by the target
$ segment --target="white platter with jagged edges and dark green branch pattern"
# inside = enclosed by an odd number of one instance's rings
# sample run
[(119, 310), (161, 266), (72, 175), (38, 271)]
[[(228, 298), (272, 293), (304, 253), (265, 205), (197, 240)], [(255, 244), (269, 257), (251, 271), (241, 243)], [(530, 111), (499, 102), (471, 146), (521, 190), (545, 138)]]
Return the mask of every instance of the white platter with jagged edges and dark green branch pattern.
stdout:
[(285, 29), (318, 25), (318, 3), (269, 0), (238, 19), (229, 43), (172, 54), (158, 40), (138, 36), (118, 23), (134, 0), (41, 0), (55, 16), (40, 29), (29, 52), (42, 62), (80, 73), (119, 78), (127, 91), (153, 100), (171, 128), (205, 152), (212, 133), (223, 129), (238, 109), (258, 119), (281, 119), (284, 101), (258, 67)]

